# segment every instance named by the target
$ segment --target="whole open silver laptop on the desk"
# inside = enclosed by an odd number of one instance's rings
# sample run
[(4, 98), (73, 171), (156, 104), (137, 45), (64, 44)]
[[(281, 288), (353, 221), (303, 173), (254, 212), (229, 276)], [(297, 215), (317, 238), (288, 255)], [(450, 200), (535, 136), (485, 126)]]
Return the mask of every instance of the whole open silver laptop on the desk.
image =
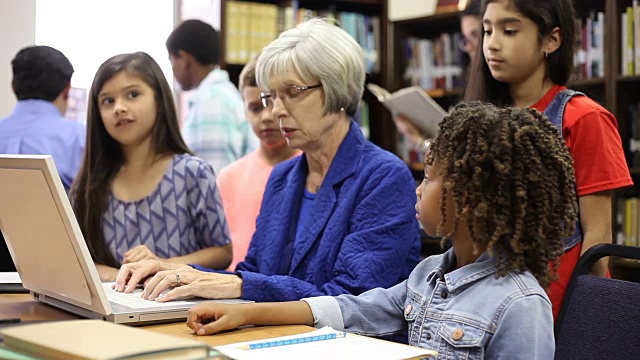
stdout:
[[(86, 318), (120, 324), (181, 321), (205, 299), (156, 303), (101, 283), (49, 155), (0, 154), (0, 229), (33, 298)], [(227, 303), (239, 299), (216, 300)]]

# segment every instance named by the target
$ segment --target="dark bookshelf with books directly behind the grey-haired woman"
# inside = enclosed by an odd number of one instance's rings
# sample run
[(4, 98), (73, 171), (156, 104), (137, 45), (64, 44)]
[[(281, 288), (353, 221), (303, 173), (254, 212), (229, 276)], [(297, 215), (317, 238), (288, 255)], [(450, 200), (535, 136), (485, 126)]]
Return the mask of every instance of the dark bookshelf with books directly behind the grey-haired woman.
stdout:
[[(240, 19), (234, 15), (237, 12), (243, 14)], [(221, 67), (229, 72), (231, 81), (236, 85), (240, 71), (251, 55), (260, 51), (280, 32), (309, 17), (323, 16), (335, 18), (364, 48), (367, 82), (386, 86), (386, 0), (220, 0), (220, 13)], [(257, 33), (251, 30), (252, 26), (258, 29)], [(372, 36), (362, 37), (362, 29), (367, 29)], [(244, 36), (239, 35), (243, 32), (246, 32)], [(249, 38), (249, 45), (246, 38)], [(255, 38), (258, 41), (251, 43)], [(236, 52), (244, 52), (238, 46), (248, 47), (249, 55), (243, 53), (237, 56)], [(390, 116), (369, 92), (365, 91), (363, 100), (361, 125), (368, 132), (369, 139), (382, 148), (393, 150), (395, 139), (388, 134), (395, 132), (395, 129)]]

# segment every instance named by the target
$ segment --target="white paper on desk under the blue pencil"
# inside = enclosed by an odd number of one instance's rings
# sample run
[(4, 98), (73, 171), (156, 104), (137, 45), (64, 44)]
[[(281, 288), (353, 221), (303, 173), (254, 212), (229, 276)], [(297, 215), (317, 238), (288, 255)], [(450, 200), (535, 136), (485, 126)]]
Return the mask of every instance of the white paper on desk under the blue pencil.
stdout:
[(309, 333), (282, 336), (260, 341), (247, 341), (243, 343), (216, 346), (215, 349), (223, 354), (236, 359), (409, 359), (422, 358), (437, 355), (436, 351), (414, 346), (402, 345), (390, 341), (378, 340), (366, 336), (348, 334), (347, 337), (308, 342), (295, 345), (276, 346), (264, 349), (242, 350), (243, 345), (256, 342), (294, 339), (313, 335), (334, 333), (336, 330), (330, 327), (312, 331)]

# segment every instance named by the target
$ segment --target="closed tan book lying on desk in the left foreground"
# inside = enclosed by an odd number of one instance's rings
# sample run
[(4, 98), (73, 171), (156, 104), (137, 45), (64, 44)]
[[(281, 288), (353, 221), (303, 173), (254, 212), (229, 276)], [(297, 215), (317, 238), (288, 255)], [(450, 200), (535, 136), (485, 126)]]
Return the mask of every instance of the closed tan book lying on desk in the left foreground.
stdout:
[(17, 325), (0, 330), (4, 346), (47, 359), (206, 359), (205, 343), (101, 320)]

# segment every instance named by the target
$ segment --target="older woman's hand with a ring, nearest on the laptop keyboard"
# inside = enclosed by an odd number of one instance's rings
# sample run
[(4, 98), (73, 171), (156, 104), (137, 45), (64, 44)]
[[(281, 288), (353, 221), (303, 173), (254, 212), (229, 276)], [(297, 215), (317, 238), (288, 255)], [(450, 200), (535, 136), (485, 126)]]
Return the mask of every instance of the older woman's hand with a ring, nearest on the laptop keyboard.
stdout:
[[(169, 289), (162, 296), (160, 294)], [(236, 275), (208, 273), (190, 266), (158, 272), (147, 282), (142, 298), (165, 302), (177, 298), (237, 299), (242, 296), (242, 279)]]

